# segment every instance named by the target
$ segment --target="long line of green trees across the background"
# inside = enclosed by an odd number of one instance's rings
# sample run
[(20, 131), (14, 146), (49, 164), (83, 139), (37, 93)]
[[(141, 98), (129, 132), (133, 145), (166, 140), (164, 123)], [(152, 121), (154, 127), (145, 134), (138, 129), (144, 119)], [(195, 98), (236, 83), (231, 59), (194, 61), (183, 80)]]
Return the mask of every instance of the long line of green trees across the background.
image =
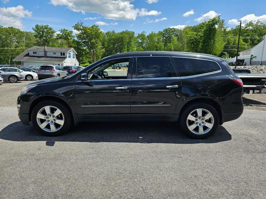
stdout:
[[(165, 28), (159, 32), (102, 32), (99, 26), (77, 22), (78, 33), (48, 25), (36, 24), (33, 32), (0, 26), (0, 64), (13, 64), (12, 59), (32, 46), (73, 47), (80, 64), (90, 64), (105, 56), (130, 51), (180, 51), (212, 54), (222, 58), (236, 56), (239, 26), (229, 29), (220, 16), (183, 30)], [(257, 45), (266, 34), (266, 24), (251, 21), (241, 29), (239, 51)]]

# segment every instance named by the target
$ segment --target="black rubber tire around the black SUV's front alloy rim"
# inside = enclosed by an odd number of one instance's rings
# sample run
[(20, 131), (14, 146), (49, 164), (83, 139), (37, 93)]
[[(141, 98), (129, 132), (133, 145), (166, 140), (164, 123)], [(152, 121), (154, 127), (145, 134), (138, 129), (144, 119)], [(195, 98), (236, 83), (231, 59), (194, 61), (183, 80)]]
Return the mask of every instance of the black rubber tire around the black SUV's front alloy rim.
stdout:
[[(59, 108), (61, 110), (61, 112), (63, 113), (64, 116), (64, 124), (63, 126), (56, 132), (47, 132), (43, 129), (41, 129), (37, 123), (36, 120), (36, 115), (38, 113), (38, 111), (45, 107), (45, 106), (55, 106), (56, 108)], [(64, 105), (60, 104), (57, 101), (52, 101), (52, 100), (45, 100), (43, 102), (38, 103), (34, 109), (32, 110), (32, 114), (31, 114), (31, 121), (32, 121), (32, 126), (41, 134), (45, 135), (45, 136), (58, 136), (61, 135), (63, 133), (65, 133), (72, 125), (72, 115), (71, 112), (68, 110), (68, 108), (66, 108)]]

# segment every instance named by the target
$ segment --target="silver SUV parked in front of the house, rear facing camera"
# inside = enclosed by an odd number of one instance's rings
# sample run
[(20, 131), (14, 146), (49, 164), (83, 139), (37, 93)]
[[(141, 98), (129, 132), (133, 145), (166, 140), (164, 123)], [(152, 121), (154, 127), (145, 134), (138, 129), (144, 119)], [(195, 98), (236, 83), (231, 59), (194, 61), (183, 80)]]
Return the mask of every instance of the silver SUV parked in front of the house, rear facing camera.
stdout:
[(61, 66), (42, 65), (38, 69), (39, 80), (51, 77), (63, 77), (63, 76), (68, 76), (68, 72), (65, 71)]

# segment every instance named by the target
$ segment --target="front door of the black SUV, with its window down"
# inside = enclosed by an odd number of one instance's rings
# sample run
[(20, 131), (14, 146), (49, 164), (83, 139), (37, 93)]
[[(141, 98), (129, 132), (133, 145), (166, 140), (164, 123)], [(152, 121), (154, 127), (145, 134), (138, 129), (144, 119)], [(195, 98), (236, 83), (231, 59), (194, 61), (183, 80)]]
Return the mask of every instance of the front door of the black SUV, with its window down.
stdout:
[[(75, 105), (80, 119), (90, 118), (130, 118), (130, 85), (133, 58), (112, 59), (89, 69), (89, 77), (101, 67), (105, 74), (115, 79), (78, 80), (75, 85)], [(127, 62), (128, 70), (114, 71), (113, 63)], [(103, 72), (103, 71), (102, 71)], [(107, 72), (107, 73), (106, 73)]]

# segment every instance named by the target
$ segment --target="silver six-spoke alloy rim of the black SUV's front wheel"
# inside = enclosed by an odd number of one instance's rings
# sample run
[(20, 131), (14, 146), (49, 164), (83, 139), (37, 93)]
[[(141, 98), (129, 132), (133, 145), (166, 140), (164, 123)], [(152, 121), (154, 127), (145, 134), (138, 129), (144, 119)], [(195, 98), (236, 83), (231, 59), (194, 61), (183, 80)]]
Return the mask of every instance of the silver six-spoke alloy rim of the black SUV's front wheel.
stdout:
[(55, 106), (45, 106), (38, 111), (36, 120), (41, 129), (47, 132), (56, 132), (64, 124), (64, 115)]

